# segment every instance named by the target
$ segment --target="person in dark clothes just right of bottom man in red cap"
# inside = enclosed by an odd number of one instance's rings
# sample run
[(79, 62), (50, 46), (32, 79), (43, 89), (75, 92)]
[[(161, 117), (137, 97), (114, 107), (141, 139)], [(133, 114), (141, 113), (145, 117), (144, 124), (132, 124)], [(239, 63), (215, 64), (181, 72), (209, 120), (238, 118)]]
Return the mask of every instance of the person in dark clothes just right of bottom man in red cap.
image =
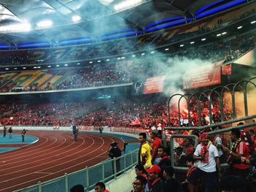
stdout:
[(178, 191), (178, 183), (173, 178), (174, 169), (173, 166), (165, 166), (163, 169), (163, 191), (164, 192), (176, 192)]

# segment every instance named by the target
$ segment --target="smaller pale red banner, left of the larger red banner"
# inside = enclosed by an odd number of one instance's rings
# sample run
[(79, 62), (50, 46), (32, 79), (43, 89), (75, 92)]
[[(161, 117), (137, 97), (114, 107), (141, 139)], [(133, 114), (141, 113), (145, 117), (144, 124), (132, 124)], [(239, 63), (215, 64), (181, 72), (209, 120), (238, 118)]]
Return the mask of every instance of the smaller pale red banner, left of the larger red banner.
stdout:
[(165, 75), (149, 77), (145, 82), (143, 94), (163, 92), (164, 82)]

